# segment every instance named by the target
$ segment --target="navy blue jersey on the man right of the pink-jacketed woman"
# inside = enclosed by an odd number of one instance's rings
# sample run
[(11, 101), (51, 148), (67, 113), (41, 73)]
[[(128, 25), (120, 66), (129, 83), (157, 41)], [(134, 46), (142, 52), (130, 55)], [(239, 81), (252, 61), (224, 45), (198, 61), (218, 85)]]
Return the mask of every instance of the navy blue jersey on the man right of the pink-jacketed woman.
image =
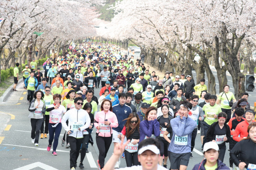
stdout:
[(121, 132), (123, 130), (124, 124), (126, 123), (126, 120), (124, 119), (128, 118), (129, 114), (132, 113), (132, 109), (130, 106), (124, 104), (116, 104), (113, 106), (113, 113), (115, 113), (117, 120), (118, 120), (118, 126), (113, 127), (112, 129)]

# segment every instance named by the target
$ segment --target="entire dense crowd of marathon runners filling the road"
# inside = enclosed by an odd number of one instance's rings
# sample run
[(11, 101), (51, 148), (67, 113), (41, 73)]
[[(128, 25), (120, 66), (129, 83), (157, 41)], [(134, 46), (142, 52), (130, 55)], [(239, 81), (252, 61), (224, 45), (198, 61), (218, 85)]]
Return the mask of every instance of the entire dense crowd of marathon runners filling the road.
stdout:
[[(94, 141), (99, 169), (119, 168), (122, 156), (127, 167), (138, 165), (133, 169), (165, 169), (169, 158), (171, 170), (186, 170), (200, 134), (205, 159), (193, 170), (256, 169), (255, 112), (248, 93), (236, 101), (228, 85), (217, 97), (208, 93), (204, 79), (195, 85), (191, 75), (172, 72), (160, 79), (144, 66), (144, 57), (135, 60), (117, 45), (85, 42), (69, 46), (63, 56), (50, 56), (44, 75), (33, 59), (31, 69), (22, 71), (32, 143), (38, 146), (49, 137), (47, 151), (57, 155), (63, 127), (61, 145), (70, 148), (72, 170), (84, 168)], [(113, 155), (105, 164), (112, 142)], [(223, 163), (226, 143), (229, 166)]]

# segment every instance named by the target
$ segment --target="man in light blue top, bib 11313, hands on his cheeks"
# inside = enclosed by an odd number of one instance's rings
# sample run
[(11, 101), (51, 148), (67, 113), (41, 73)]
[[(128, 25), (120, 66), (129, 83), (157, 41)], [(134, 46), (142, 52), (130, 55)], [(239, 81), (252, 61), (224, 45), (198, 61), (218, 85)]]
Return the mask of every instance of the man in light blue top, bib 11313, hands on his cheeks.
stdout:
[(191, 134), (196, 128), (196, 122), (188, 117), (192, 104), (187, 100), (180, 102), (179, 116), (171, 119), (173, 137), (168, 148), (171, 170), (186, 170), (191, 152)]

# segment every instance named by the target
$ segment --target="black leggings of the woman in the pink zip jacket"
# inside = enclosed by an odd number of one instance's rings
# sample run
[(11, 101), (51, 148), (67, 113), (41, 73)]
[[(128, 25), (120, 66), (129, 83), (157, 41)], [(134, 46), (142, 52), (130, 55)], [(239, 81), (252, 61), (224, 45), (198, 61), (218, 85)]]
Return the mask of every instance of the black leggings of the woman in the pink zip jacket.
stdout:
[(99, 149), (99, 164), (100, 169), (104, 167), (105, 158), (108, 153), (108, 149), (112, 143), (112, 134), (110, 137), (99, 136), (99, 133), (96, 133), (96, 144)]

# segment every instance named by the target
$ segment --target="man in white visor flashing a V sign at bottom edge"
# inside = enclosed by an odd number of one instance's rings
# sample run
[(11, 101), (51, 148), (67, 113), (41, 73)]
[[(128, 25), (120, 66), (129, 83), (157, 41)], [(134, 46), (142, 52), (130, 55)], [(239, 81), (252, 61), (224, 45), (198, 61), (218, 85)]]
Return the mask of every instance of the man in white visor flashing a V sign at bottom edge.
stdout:
[[(130, 142), (128, 140), (125, 144), (122, 144), (124, 141), (124, 136), (122, 136), (121, 143), (118, 143), (114, 147), (114, 153), (109, 158), (108, 162), (104, 166), (104, 170), (113, 170), (116, 161), (118, 161), (119, 157), (122, 155), (124, 148)], [(159, 161), (161, 160), (160, 156), (160, 143), (153, 139), (148, 138), (140, 142), (138, 146), (138, 160), (141, 165), (119, 168), (119, 170), (167, 170), (166, 168), (159, 165)]]

